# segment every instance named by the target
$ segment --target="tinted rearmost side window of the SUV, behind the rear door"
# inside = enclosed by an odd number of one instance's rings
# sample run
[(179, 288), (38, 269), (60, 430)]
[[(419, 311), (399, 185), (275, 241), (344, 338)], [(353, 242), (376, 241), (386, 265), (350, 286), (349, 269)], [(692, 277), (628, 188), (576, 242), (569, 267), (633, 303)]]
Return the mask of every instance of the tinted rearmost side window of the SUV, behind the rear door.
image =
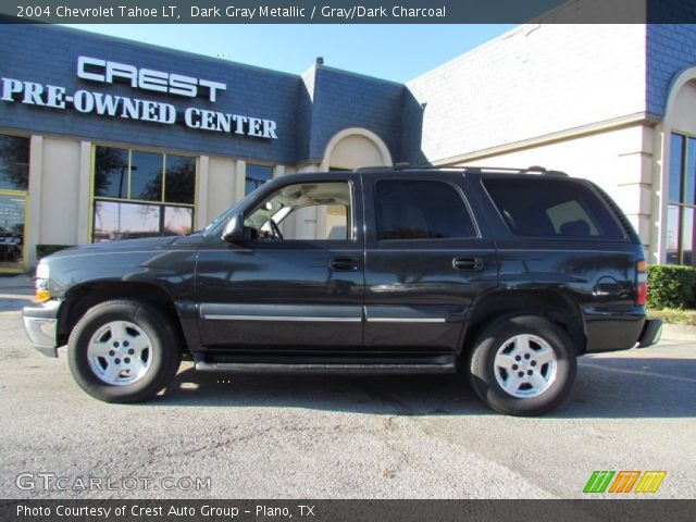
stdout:
[(624, 239), (605, 204), (586, 186), (556, 179), (488, 178), (493, 202), (517, 236)]

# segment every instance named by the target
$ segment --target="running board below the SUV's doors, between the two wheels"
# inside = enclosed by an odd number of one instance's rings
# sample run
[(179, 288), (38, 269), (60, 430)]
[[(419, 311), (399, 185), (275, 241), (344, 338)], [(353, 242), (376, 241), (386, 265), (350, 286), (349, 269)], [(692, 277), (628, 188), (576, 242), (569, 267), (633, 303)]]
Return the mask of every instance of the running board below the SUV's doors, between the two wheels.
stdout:
[(300, 364), (272, 362), (207, 362), (196, 361), (196, 370), (201, 372), (227, 373), (333, 373), (333, 374), (399, 374), (399, 373), (455, 373), (455, 362), (444, 364)]

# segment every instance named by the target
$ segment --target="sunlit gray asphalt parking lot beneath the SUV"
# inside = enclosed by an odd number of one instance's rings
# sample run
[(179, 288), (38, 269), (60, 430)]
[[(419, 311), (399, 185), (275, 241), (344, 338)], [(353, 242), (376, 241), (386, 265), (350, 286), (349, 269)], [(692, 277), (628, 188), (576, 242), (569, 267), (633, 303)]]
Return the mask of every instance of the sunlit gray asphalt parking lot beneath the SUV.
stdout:
[(570, 398), (537, 419), (487, 410), (457, 376), (190, 363), (156, 400), (115, 406), (79, 390), (64, 357), (34, 352), (11, 295), (2, 498), (581, 498), (595, 470), (663, 470), (652, 497), (696, 498), (696, 341), (583, 358)]

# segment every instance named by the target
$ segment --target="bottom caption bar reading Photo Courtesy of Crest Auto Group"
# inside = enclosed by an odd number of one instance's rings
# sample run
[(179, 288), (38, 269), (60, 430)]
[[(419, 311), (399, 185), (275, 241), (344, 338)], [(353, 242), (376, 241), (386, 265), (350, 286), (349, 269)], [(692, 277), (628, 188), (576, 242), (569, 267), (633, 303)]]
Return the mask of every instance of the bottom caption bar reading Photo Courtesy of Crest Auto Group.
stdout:
[[(0, 521), (693, 521), (696, 500), (0, 500)], [(34, 513), (34, 514), (30, 514)], [(61, 514), (63, 513), (63, 514)], [(67, 513), (67, 514), (65, 514)]]

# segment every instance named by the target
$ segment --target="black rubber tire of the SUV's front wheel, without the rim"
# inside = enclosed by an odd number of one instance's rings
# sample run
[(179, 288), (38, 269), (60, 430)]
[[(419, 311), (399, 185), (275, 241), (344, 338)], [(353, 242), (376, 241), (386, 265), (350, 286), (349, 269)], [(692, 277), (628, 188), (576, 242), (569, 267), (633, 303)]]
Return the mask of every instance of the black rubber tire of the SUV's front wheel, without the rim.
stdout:
[[(113, 322), (132, 323), (149, 337), (145, 350), (149, 365), (133, 383), (108, 384), (89, 362), (90, 339)], [(151, 398), (174, 378), (182, 346), (172, 321), (156, 307), (136, 300), (111, 300), (90, 308), (73, 328), (67, 359), (73, 377), (87, 394), (105, 402), (138, 402)]]

